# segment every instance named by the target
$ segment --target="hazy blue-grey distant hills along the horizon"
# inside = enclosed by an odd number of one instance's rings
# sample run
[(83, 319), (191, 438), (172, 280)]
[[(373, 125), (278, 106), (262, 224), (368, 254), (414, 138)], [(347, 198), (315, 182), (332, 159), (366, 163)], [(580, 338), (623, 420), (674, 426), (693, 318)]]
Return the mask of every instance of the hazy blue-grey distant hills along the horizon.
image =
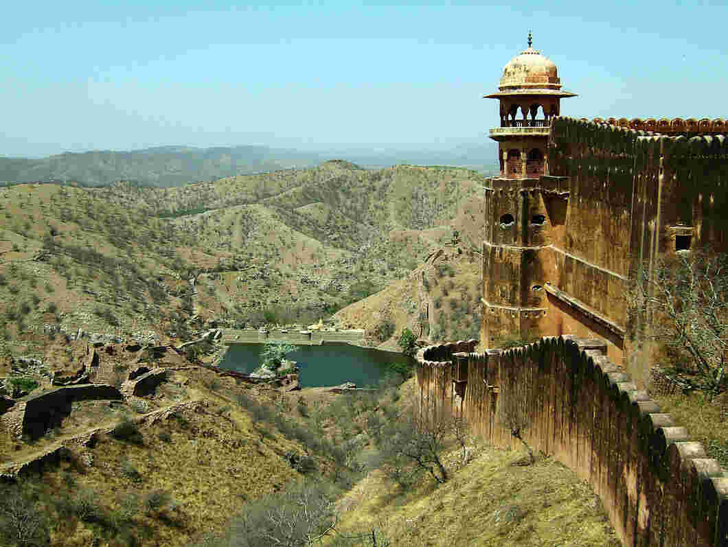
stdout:
[(297, 151), (267, 146), (194, 148), (161, 146), (135, 151), (66, 152), (42, 159), (0, 156), (0, 184), (75, 182), (106, 186), (119, 180), (157, 187), (181, 186), (223, 177), (305, 168), (332, 157), (347, 157), (362, 167), (395, 164), (444, 164), (479, 171), (490, 169), (492, 143), (461, 145), (452, 151)]

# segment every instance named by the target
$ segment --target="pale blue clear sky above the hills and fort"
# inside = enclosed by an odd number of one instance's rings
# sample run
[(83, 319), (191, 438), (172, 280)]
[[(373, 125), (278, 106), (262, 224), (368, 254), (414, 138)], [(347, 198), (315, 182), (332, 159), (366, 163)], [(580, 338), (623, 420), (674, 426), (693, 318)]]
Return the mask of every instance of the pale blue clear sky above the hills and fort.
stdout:
[(448, 148), (499, 124), (502, 68), (558, 65), (565, 116), (728, 117), (716, 2), (12, 2), (0, 156), (159, 145)]

